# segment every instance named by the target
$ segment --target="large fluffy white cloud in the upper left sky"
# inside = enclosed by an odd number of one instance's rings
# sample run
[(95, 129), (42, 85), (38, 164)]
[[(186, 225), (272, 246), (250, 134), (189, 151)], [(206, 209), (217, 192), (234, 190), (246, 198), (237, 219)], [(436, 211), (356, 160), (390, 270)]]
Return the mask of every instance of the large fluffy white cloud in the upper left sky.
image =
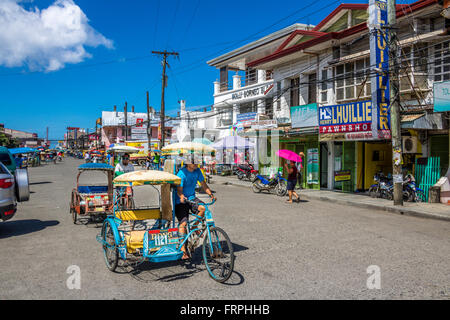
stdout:
[(90, 58), (85, 46), (113, 48), (73, 0), (57, 0), (43, 10), (26, 10), (19, 2), (0, 0), (2, 66), (54, 71)]

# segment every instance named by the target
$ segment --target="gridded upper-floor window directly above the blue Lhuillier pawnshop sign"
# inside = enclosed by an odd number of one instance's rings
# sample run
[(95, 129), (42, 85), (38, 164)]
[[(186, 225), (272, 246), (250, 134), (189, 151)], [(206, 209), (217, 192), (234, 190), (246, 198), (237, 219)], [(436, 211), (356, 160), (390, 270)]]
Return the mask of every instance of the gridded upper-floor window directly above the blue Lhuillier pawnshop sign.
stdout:
[(370, 58), (335, 67), (336, 101), (367, 98), (370, 92)]

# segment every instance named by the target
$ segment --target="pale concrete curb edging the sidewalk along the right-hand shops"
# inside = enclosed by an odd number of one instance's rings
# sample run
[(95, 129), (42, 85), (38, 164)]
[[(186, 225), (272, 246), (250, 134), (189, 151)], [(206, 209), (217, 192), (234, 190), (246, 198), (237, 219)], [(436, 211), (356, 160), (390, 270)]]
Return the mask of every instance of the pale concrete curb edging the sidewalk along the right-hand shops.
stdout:
[[(222, 185), (232, 185), (236, 187), (242, 187), (242, 188), (250, 188), (248, 185), (235, 183), (232, 181), (225, 181), (225, 182), (217, 182), (218, 184)], [(359, 208), (365, 208), (365, 209), (373, 209), (373, 210), (381, 210), (381, 211), (387, 211), (392, 212), (400, 215), (405, 216), (411, 216), (411, 217), (418, 217), (418, 218), (425, 218), (425, 219), (433, 219), (433, 220), (441, 220), (441, 221), (450, 221), (449, 216), (443, 216), (437, 213), (429, 213), (429, 212), (423, 212), (415, 209), (405, 208), (405, 207), (391, 207), (391, 206), (385, 206), (385, 205), (375, 205), (371, 203), (362, 203), (362, 202), (355, 202), (355, 201), (349, 201), (349, 200), (340, 200), (335, 198), (330, 198), (327, 196), (321, 196), (321, 195), (311, 195), (311, 194), (302, 194), (302, 197), (309, 199), (309, 200), (321, 200), (321, 201), (333, 201), (335, 203), (347, 205), (347, 206), (353, 206), (353, 207), (359, 207)]]

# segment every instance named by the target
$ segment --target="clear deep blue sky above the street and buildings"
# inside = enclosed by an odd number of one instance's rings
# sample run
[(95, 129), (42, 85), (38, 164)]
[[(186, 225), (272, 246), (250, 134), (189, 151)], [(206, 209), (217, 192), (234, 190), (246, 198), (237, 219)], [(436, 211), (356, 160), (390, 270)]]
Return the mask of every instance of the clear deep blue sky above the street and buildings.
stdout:
[[(78, 6), (97, 33), (98, 37), (92, 40), (97, 41), (96, 47), (83, 46), (89, 57), (65, 63), (54, 71), (49, 71), (48, 65), (39, 65), (48, 55), (41, 49), (33, 51), (35, 60), (25, 57), (22, 65), (6, 65), (0, 60), (0, 123), (12, 129), (37, 132), (41, 137), (45, 137), (49, 127), (52, 139), (61, 139), (67, 126), (92, 130), (102, 110), (112, 110), (114, 105), (123, 110), (125, 101), (129, 110), (134, 105), (135, 111), (145, 112), (147, 90), (150, 105), (159, 110), (161, 57), (152, 55), (152, 50), (180, 53), (179, 59), (169, 59), (167, 73), (166, 112), (175, 116), (180, 99), (186, 100), (188, 108), (213, 103), (213, 81), (219, 71), (208, 66), (207, 60), (296, 22), (317, 24), (341, 3), (333, 0), (279, 0), (276, 5), (268, 0), (59, 1)], [(34, 11), (35, 8), (45, 10), (55, 2), (27, 0), (17, 4)], [(397, 1), (405, 2), (413, 1)], [(2, 32), (7, 31), (0, 29), (0, 43)], [(8, 39), (7, 36), (4, 34), (3, 39)], [(66, 57), (52, 50), (48, 52)]]

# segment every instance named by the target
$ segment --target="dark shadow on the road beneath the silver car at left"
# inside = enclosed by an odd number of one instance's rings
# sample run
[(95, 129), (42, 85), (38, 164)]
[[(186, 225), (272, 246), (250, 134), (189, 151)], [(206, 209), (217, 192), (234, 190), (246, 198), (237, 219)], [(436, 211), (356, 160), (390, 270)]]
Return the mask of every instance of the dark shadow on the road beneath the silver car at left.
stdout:
[(0, 222), (0, 239), (41, 231), (58, 224), (59, 221), (56, 220), (41, 221), (37, 219)]

